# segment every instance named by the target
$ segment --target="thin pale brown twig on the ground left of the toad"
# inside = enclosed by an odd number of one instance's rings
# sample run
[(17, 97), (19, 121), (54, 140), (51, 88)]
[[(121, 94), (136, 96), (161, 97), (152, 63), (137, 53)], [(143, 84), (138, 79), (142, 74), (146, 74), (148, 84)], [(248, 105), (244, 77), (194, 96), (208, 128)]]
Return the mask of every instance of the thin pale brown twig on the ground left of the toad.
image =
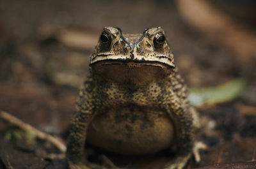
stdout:
[(63, 143), (61, 140), (58, 140), (54, 136), (47, 135), (46, 133), (34, 128), (33, 126), (31, 126), (23, 121), (20, 121), (20, 119), (17, 119), (16, 117), (8, 114), (7, 112), (0, 111), (0, 117), (4, 120), (14, 124), (15, 126), (18, 126), (19, 128), (24, 129), (25, 131), (35, 133), (35, 135), (38, 136), (38, 138), (40, 138), (42, 140), (47, 140), (47, 141), (51, 142), (53, 145), (58, 147), (58, 149), (60, 149), (61, 152), (66, 152), (67, 147), (66, 147), (65, 143)]

